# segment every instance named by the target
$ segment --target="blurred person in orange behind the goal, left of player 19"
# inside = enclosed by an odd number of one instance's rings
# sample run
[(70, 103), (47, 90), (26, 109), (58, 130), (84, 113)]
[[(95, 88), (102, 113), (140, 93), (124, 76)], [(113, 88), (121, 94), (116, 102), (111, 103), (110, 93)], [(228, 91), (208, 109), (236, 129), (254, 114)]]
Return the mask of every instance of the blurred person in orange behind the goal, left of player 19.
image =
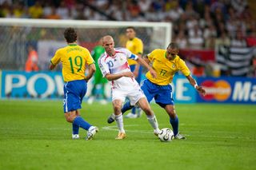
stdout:
[(38, 52), (32, 45), (28, 46), (28, 57), (25, 64), (25, 71), (38, 71)]

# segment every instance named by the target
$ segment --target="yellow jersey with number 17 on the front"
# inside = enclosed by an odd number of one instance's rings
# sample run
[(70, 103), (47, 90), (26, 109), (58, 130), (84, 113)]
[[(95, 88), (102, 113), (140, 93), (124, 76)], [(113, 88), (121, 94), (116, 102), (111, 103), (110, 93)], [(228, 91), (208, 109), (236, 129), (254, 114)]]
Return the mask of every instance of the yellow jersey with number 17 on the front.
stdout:
[(153, 63), (152, 67), (157, 72), (157, 77), (153, 78), (150, 72), (146, 73), (147, 79), (157, 85), (168, 85), (173, 81), (174, 74), (179, 70), (184, 76), (190, 75), (190, 69), (186, 66), (178, 55), (173, 61), (166, 58), (166, 49), (154, 49), (147, 55), (150, 62)]

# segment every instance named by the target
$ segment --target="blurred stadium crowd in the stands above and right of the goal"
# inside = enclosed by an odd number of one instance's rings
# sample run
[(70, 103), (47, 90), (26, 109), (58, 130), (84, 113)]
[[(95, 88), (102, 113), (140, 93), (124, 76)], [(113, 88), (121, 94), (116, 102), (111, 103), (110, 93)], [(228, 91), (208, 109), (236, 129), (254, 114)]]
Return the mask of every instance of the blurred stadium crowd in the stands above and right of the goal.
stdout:
[[(181, 49), (219, 50), (220, 45), (256, 45), (256, 20), (251, 9), (255, 4), (250, 0), (0, 0), (0, 17), (172, 22), (172, 38)], [(224, 68), (225, 74), (255, 76), (255, 50), (251, 51), (246, 64), (240, 65), (251, 66), (250, 70), (234, 74)], [(228, 60), (228, 67), (232, 67), (234, 61)], [(222, 55), (216, 55), (216, 61), (228, 63)]]

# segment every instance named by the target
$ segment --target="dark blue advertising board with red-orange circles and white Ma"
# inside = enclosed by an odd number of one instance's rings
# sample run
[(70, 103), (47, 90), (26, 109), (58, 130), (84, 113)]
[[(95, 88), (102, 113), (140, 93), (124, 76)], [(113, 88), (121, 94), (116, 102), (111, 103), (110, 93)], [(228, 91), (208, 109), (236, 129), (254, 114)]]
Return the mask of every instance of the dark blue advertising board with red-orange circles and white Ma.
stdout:
[(198, 102), (256, 104), (256, 78), (198, 77), (197, 81), (206, 89)]

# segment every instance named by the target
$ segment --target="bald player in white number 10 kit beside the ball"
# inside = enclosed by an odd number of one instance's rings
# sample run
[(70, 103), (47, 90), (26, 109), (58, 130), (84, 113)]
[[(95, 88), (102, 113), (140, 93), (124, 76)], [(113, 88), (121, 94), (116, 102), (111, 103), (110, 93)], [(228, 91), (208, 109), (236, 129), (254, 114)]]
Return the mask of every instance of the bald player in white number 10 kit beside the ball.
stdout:
[(134, 59), (141, 65), (149, 69), (153, 77), (156, 77), (154, 69), (150, 67), (141, 57), (134, 55), (128, 49), (114, 48), (114, 40), (110, 35), (102, 38), (102, 45), (105, 48), (105, 53), (98, 59), (98, 65), (102, 71), (103, 77), (111, 81), (112, 85), (112, 104), (114, 109), (114, 119), (118, 125), (117, 140), (126, 138), (126, 132), (123, 128), (122, 120), (122, 104), (126, 97), (130, 99), (131, 105), (138, 105), (147, 116), (150, 125), (154, 128), (154, 134), (158, 135), (160, 132), (158, 128), (158, 121), (154, 116), (154, 112), (150, 109), (150, 105), (146, 100), (142, 89), (134, 78), (134, 74), (130, 71), (130, 66), (127, 59)]

